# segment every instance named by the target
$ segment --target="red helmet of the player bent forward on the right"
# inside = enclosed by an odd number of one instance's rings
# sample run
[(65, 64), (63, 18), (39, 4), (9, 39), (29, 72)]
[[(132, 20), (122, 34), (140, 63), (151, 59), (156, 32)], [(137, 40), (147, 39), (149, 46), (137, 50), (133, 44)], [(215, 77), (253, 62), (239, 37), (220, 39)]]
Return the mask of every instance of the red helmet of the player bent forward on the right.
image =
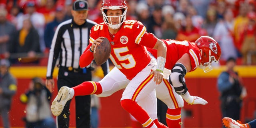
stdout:
[(212, 70), (212, 62), (218, 63), (220, 59), (221, 49), (220, 45), (209, 36), (201, 36), (196, 40), (196, 46), (200, 49), (202, 60), (200, 64), (200, 68), (204, 70), (204, 72), (209, 72)]

